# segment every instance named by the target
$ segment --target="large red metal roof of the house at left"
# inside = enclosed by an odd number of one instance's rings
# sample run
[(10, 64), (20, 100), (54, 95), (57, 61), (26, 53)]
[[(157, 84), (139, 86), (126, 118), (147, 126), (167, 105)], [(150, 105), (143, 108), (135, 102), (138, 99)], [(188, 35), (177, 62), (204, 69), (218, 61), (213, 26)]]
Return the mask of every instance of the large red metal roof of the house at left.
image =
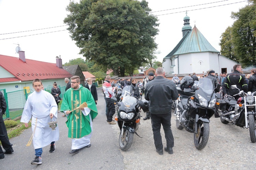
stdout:
[(24, 63), (17, 57), (6, 55), (0, 55), (0, 66), (21, 81), (32, 81), (34, 79), (61, 79), (72, 77), (68, 71), (57, 67), (56, 63), (46, 63), (30, 59), (26, 59), (26, 63)]

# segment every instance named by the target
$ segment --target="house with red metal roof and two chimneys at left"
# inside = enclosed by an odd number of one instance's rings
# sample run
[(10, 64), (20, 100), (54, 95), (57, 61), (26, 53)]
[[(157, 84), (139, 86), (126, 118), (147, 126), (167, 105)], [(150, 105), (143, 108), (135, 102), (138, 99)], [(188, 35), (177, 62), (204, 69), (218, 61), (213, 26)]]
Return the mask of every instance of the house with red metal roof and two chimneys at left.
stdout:
[(32, 87), (34, 79), (40, 79), (44, 88), (66, 86), (65, 78), (73, 75), (62, 68), (62, 60), (56, 58), (56, 63), (47, 63), (25, 58), (25, 51), (19, 51), (19, 57), (0, 55), (0, 89), (6, 92), (23, 90)]

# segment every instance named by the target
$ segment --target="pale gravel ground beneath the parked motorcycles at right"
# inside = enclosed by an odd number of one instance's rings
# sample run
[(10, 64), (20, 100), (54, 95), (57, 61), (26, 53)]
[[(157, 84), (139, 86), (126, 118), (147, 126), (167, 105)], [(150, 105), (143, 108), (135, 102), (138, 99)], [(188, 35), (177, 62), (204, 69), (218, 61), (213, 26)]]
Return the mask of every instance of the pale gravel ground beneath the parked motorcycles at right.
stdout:
[[(142, 114), (145, 116), (145, 113)], [(126, 169), (255, 169), (255, 143), (247, 129), (223, 124), (220, 118), (210, 119), (210, 136), (207, 146), (199, 151), (194, 145), (194, 134), (176, 128), (175, 116), (171, 118), (174, 136), (173, 154), (155, 151), (150, 120), (142, 120), (134, 135), (131, 148), (121, 153)], [(117, 136), (119, 134), (116, 131)], [(166, 146), (161, 129), (163, 146)]]

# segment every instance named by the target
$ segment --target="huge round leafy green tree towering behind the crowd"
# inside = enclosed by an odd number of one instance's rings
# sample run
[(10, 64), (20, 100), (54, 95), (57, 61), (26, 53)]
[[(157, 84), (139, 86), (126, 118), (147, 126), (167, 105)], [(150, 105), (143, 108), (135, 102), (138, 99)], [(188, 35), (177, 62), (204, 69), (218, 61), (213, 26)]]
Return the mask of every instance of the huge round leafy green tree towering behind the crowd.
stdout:
[(157, 46), (158, 19), (145, 0), (81, 0), (67, 11), (64, 22), (80, 53), (115, 75), (132, 75)]

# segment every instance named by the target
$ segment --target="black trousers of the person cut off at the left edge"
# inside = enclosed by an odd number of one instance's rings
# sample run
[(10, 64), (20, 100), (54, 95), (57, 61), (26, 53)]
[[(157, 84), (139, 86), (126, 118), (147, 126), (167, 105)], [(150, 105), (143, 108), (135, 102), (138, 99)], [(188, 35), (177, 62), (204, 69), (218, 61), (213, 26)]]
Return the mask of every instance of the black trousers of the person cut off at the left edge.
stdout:
[[(5, 151), (10, 151), (12, 149), (12, 144), (9, 141), (7, 130), (3, 122), (2, 116), (0, 116), (0, 141), (2, 142), (2, 146)], [(0, 147), (0, 157), (3, 157), (3, 156), (4, 156), (4, 153), (2, 148)]]

